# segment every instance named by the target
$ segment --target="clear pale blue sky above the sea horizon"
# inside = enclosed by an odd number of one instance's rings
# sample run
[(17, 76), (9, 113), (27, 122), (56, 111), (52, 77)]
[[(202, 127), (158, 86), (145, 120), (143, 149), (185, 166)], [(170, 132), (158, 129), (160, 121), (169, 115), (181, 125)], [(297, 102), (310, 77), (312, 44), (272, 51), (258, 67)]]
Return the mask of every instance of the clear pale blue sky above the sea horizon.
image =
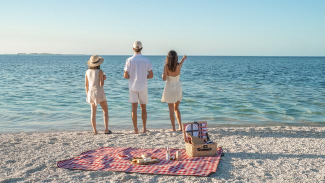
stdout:
[(325, 55), (325, 0), (1, 0), (0, 54)]

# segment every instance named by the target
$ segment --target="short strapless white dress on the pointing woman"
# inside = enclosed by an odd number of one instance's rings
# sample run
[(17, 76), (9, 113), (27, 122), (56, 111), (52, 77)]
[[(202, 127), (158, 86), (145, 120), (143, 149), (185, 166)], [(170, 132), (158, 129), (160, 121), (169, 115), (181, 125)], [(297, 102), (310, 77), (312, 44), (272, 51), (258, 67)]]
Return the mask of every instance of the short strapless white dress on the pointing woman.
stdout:
[(179, 81), (180, 75), (177, 76), (167, 76), (166, 85), (163, 89), (161, 101), (166, 103), (176, 103), (181, 101), (182, 90)]

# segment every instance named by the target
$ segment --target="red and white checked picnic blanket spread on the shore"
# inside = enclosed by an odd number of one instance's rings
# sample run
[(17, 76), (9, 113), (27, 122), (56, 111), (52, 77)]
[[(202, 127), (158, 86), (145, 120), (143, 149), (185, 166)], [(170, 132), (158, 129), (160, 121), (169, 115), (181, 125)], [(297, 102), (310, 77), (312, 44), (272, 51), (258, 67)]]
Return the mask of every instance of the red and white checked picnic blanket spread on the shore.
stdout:
[[(174, 155), (176, 150), (181, 151), (181, 160), (166, 160), (165, 148), (99, 147), (76, 157), (57, 161), (56, 164), (60, 168), (69, 169), (207, 176), (216, 171), (222, 153), (222, 148), (219, 147), (216, 155), (210, 157), (190, 157), (184, 149), (174, 148), (170, 148), (170, 154)], [(133, 156), (143, 153), (156, 156), (160, 162), (148, 165), (130, 163)], [(129, 159), (120, 159), (117, 154), (129, 155)]]

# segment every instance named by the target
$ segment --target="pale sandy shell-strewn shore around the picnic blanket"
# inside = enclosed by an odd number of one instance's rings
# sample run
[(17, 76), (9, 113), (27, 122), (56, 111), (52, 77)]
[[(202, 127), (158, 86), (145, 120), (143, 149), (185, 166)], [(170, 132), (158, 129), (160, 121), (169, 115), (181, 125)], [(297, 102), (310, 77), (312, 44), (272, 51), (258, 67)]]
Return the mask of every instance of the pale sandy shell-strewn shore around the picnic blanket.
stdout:
[[(99, 131), (102, 133), (102, 131)], [(216, 127), (223, 147), (217, 172), (208, 177), (166, 176), (57, 168), (56, 161), (99, 146), (183, 148), (181, 132), (130, 130), (0, 134), (0, 182), (324, 182), (325, 127)]]

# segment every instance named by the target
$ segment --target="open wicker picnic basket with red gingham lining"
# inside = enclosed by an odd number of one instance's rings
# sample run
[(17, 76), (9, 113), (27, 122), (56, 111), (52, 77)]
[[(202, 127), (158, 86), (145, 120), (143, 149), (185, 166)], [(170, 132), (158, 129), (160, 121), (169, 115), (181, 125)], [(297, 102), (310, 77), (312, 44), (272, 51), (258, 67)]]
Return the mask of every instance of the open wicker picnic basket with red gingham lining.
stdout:
[[(197, 125), (197, 130), (191, 130), (186, 131), (187, 125)], [(183, 123), (183, 138), (185, 141), (185, 150), (187, 155), (191, 157), (197, 157), (197, 156), (213, 156), (216, 154), (216, 143), (210, 143), (210, 144), (191, 144), (190, 143), (190, 137), (186, 135), (186, 132), (189, 132), (193, 135), (194, 131), (198, 132), (198, 137), (201, 139), (206, 140), (205, 132), (207, 132), (207, 122), (206, 121), (194, 121), (194, 122), (187, 122)]]

